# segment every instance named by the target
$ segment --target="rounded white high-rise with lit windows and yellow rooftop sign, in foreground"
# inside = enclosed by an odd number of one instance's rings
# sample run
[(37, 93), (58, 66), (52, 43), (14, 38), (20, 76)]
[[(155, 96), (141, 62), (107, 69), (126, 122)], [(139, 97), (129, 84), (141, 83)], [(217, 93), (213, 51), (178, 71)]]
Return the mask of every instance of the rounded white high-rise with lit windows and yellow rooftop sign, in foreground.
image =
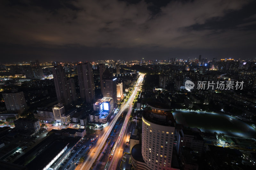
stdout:
[(146, 170), (172, 169), (175, 119), (171, 108), (163, 103), (148, 102), (148, 105), (152, 110), (143, 112), (141, 145), (132, 148), (132, 166)]

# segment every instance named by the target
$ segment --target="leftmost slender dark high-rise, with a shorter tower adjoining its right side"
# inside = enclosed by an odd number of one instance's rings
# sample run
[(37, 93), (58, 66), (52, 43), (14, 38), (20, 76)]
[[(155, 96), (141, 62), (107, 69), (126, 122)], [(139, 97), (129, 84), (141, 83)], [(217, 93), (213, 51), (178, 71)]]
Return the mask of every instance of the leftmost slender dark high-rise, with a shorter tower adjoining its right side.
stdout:
[(72, 97), (64, 67), (61, 65), (53, 67), (52, 74), (58, 102), (64, 103), (65, 105), (70, 104), (72, 102)]

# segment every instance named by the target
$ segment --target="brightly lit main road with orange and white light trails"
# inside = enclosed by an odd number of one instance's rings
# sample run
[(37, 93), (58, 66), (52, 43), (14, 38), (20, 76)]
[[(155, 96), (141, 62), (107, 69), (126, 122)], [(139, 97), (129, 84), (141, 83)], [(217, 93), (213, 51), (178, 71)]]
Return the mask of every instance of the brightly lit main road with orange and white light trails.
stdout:
[[(140, 89), (139, 88), (139, 84), (143, 81), (143, 78), (144, 78), (144, 74), (141, 74), (139, 73), (140, 76), (137, 80), (137, 82), (135, 83), (135, 88), (134, 90), (132, 91), (132, 94), (131, 96), (129, 97), (129, 99), (127, 100), (127, 102), (125, 104), (123, 104), (119, 110), (119, 112), (116, 114), (116, 116), (111, 120), (110, 123), (108, 123), (108, 125), (103, 129), (103, 135), (101, 135), (98, 140), (96, 141), (96, 144), (94, 144), (91, 148), (91, 151), (88, 153), (87, 157), (85, 158), (84, 162), (82, 165), (79, 165), (76, 167), (76, 170), (80, 169), (80, 170), (89, 170), (91, 167), (92, 167), (92, 164), (93, 162), (97, 159), (97, 156), (100, 154), (101, 152), (101, 149), (103, 148), (103, 145), (105, 144), (111, 130), (113, 129), (113, 127), (115, 126), (116, 124), (116, 121), (117, 119), (119, 118), (119, 116), (124, 112), (124, 110), (126, 110), (127, 108), (129, 108), (129, 111), (125, 117), (125, 122), (124, 124), (127, 125), (127, 120), (129, 120), (130, 118), (130, 114), (131, 114), (131, 109), (132, 109), (132, 102), (138, 92), (138, 90)], [(137, 86), (137, 87), (136, 87)], [(125, 127), (126, 128), (126, 127)], [(125, 131), (125, 128), (124, 128), (124, 125), (121, 129), (121, 132)], [(118, 148), (120, 146), (120, 141), (123, 141), (121, 140), (122, 137), (122, 134), (121, 132), (119, 133), (119, 136), (118, 136), (118, 141), (117, 143), (119, 143)], [(116, 146), (116, 145), (115, 145)]]

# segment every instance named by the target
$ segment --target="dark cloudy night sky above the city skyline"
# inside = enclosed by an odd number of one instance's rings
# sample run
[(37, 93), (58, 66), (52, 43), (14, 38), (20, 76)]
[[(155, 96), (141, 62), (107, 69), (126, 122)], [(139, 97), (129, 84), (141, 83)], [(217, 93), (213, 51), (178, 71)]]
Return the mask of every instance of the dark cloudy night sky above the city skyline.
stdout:
[(159, 1), (2, 0), (0, 61), (256, 58), (256, 1)]

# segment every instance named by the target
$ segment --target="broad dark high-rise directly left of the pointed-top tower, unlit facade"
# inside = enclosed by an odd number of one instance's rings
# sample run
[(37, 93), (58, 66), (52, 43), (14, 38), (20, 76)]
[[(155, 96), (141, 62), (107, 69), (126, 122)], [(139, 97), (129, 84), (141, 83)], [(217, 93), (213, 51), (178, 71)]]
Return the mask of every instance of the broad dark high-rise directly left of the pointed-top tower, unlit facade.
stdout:
[(88, 62), (78, 64), (77, 74), (81, 98), (85, 99), (86, 103), (92, 103), (95, 100), (92, 65)]

